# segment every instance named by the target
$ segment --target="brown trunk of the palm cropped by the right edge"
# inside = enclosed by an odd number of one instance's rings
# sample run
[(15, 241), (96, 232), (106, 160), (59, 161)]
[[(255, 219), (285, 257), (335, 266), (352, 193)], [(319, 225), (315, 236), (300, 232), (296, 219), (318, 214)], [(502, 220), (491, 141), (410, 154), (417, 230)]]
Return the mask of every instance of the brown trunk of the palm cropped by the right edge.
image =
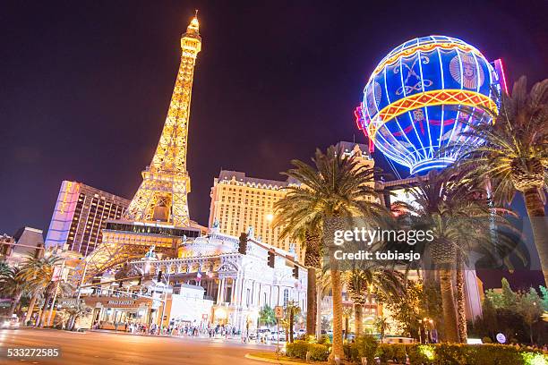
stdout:
[(536, 251), (541, 262), (544, 275), (544, 284), (548, 285), (548, 225), (546, 225), (544, 203), (536, 188), (523, 192), (526, 202), (527, 215), (531, 220)]

